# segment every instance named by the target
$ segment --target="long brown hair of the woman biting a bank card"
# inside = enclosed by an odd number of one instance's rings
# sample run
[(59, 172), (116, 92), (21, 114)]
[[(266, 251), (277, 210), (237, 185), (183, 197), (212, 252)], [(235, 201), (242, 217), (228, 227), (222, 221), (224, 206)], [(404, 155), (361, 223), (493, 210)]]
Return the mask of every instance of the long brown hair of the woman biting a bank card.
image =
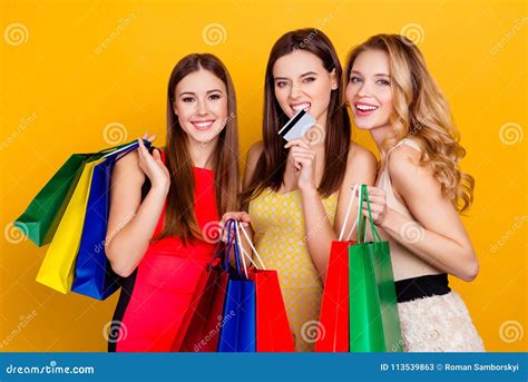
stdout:
[[(317, 56), (324, 68), (335, 70), (338, 84), (341, 85), (342, 68), (338, 53), (330, 39), (319, 29), (299, 29), (282, 36), (273, 46), (267, 60), (264, 87), (264, 123), (262, 153), (248, 187), (242, 193), (242, 205), (247, 206), (252, 198), (271, 187), (277, 192), (283, 184), (286, 169), (287, 149), (278, 130), (289, 118), (281, 109), (274, 92), (273, 66), (283, 56), (295, 50), (305, 50)], [(346, 169), (350, 148), (350, 120), (342, 92), (332, 90), (325, 128), (324, 173), (319, 185), (322, 197), (330, 196), (341, 187)]]

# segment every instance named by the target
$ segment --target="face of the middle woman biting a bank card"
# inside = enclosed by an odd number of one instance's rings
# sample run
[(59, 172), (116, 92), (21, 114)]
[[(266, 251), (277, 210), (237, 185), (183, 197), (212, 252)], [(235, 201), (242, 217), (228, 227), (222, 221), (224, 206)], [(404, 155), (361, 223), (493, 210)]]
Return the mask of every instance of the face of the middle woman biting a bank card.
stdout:
[(304, 50), (282, 56), (273, 66), (273, 78), (275, 98), (289, 118), (304, 109), (325, 126), (330, 96), (338, 89), (338, 80), (317, 56)]

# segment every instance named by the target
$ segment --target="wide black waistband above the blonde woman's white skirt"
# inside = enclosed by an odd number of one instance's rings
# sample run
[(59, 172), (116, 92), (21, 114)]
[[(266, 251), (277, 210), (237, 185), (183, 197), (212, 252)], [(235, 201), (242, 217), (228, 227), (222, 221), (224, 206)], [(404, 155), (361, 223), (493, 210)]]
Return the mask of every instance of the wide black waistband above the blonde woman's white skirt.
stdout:
[(447, 273), (400, 280), (394, 284), (399, 303), (451, 292)]

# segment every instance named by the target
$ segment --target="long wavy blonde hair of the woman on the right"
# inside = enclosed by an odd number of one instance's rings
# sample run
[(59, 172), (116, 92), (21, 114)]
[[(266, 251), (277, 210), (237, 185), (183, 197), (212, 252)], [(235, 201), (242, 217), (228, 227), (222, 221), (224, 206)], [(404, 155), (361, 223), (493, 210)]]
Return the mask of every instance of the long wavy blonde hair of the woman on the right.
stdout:
[(394, 134), (385, 138), (383, 148), (389, 149), (405, 137), (417, 141), (422, 153), (420, 165), (431, 166), (442, 194), (459, 212), (466, 212), (473, 202), (475, 178), (460, 170), (466, 150), (459, 144), (448, 101), (429, 74), (422, 53), (404, 36), (373, 36), (350, 52), (343, 76), (346, 82), (355, 59), (365, 50), (381, 50), (389, 56)]

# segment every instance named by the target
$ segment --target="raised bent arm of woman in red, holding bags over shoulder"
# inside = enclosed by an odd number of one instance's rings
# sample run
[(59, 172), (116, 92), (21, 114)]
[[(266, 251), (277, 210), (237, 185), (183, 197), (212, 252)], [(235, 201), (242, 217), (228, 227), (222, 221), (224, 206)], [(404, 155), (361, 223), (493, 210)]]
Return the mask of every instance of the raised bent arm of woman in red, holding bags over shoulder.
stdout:
[[(151, 187), (141, 203), (145, 174)], [(117, 161), (113, 172), (110, 216), (105, 241), (106, 255), (114, 272), (129, 276), (141, 261), (162, 215), (169, 176), (159, 151), (151, 156), (139, 143), (135, 150)]]

